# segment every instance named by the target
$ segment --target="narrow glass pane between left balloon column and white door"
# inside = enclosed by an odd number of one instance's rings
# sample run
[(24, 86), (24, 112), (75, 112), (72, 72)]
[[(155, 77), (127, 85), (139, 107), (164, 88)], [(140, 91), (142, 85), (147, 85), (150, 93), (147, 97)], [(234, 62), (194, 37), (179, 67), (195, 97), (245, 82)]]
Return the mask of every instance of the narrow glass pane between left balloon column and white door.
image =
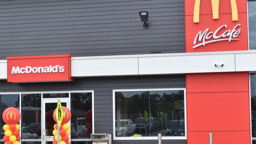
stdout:
[(41, 94), (22, 94), (22, 139), (41, 137)]

